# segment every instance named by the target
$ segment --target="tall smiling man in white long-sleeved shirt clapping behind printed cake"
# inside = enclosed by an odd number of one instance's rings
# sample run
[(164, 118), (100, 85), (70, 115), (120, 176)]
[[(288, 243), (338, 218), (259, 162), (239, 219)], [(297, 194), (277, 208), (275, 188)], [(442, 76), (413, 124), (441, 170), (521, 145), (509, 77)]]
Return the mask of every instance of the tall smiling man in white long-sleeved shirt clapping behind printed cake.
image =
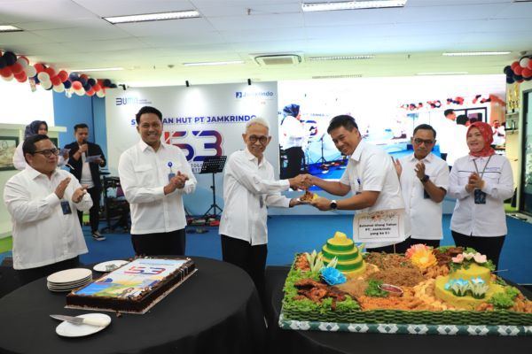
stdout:
[(140, 142), (125, 150), (118, 173), (131, 211), (131, 241), (137, 255), (184, 255), (183, 195), (196, 179), (181, 149), (160, 142), (162, 113), (145, 106), (137, 112)]

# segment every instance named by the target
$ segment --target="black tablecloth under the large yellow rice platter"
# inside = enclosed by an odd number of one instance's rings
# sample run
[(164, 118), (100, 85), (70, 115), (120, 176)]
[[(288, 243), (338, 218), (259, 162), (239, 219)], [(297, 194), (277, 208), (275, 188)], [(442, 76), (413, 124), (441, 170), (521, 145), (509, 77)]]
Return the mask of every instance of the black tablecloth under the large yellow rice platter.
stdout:
[[(271, 298), (268, 309), (268, 336), (271, 353), (482, 353), (510, 354), (532, 352), (532, 336), (466, 335), (382, 335), (348, 332), (295, 331), (278, 327), (283, 286), (288, 266), (266, 268), (266, 292)], [(529, 292), (523, 291), (528, 298)], [(532, 323), (530, 324), (532, 326)]]

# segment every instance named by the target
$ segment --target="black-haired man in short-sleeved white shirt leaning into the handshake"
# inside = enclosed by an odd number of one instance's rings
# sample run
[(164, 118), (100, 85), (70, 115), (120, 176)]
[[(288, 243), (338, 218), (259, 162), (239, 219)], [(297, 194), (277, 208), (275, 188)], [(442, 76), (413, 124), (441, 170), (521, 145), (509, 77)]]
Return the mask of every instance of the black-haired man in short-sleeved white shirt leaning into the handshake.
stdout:
[[(360, 210), (378, 212), (389, 209), (403, 209), (403, 196), (392, 158), (372, 144), (364, 142), (358, 131), (355, 119), (340, 115), (331, 119), (327, 128), (332, 142), (344, 156), (349, 156), (346, 172), (340, 181), (325, 181), (315, 176), (310, 182), (335, 196), (346, 196), (341, 200), (329, 200), (324, 197), (314, 199), (312, 204), (321, 211)], [(405, 232), (410, 231), (405, 219)], [(355, 226), (355, 223), (353, 223)], [(356, 235), (355, 230), (353, 230)], [(366, 242), (366, 248), (375, 252), (395, 251), (394, 242)]]

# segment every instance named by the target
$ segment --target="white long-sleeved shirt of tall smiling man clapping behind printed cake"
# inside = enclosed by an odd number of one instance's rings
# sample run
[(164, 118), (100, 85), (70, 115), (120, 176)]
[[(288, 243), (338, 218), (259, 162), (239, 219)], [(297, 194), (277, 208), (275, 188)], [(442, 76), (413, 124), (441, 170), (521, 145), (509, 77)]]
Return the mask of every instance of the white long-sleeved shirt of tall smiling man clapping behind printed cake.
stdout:
[[(178, 171), (189, 181), (165, 196), (168, 174)], [(141, 140), (121, 154), (118, 173), (131, 211), (131, 234), (168, 233), (186, 226), (182, 195), (192, 193), (197, 181), (181, 149), (161, 142), (155, 151)]]

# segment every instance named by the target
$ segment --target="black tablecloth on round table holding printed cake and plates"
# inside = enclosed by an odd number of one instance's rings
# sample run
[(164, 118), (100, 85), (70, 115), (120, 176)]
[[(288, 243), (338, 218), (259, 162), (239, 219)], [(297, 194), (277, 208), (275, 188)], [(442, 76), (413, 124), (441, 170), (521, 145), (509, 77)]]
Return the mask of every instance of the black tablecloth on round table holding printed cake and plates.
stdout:
[[(261, 353), (266, 328), (253, 281), (236, 266), (193, 257), (198, 267), (144, 315), (122, 314), (94, 335), (56, 335), (50, 314), (65, 309), (65, 293), (52, 293), (46, 279), (0, 299), (0, 352), (7, 353)], [(100, 273), (95, 273), (98, 276)]]

